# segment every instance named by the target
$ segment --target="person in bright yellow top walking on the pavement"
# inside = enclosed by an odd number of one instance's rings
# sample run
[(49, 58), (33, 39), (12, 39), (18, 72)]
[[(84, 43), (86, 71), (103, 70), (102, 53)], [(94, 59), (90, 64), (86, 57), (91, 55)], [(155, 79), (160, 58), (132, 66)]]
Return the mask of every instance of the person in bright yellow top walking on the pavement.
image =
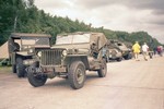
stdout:
[(140, 47), (138, 41), (136, 41), (136, 44), (132, 46), (132, 50), (133, 50), (133, 53), (134, 53), (136, 61), (139, 61), (140, 48), (141, 47)]

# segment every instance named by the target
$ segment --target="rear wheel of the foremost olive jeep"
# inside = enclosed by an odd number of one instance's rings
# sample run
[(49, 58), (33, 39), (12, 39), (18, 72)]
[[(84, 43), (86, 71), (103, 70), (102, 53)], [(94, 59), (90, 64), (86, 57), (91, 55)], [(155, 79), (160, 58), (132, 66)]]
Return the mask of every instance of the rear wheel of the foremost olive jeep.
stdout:
[(97, 70), (98, 72), (98, 76), (99, 77), (105, 77), (106, 76), (106, 73), (107, 73), (107, 64), (106, 64), (106, 61), (103, 59), (102, 61), (102, 65), (101, 65), (101, 69)]

